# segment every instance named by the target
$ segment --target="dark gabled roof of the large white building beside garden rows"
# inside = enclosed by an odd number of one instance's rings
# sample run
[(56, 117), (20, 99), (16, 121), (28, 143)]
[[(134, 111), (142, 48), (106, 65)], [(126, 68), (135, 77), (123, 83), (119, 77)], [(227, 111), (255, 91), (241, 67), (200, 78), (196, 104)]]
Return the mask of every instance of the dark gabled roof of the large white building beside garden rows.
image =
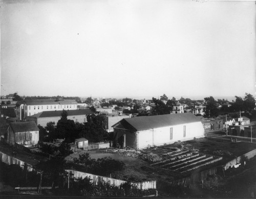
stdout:
[(164, 126), (173, 126), (179, 124), (201, 122), (197, 116), (192, 113), (167, 114), (159, 116), (141, 116), (135, 118), (124, 118), (114, 124), (114, 128), (125, 128), (131, 130), (145, 130), (150, 128), (159, 128)]

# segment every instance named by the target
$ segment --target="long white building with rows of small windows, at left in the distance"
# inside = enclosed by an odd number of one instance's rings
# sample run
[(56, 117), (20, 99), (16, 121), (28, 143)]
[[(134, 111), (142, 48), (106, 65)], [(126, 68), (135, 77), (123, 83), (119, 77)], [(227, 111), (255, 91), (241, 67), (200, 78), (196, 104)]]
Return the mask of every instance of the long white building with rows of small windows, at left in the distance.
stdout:
[(40, 112), (51, 110), (76, 110), (77, 102), (75, 100), (25, 100), (24, 117), (32, 116)]

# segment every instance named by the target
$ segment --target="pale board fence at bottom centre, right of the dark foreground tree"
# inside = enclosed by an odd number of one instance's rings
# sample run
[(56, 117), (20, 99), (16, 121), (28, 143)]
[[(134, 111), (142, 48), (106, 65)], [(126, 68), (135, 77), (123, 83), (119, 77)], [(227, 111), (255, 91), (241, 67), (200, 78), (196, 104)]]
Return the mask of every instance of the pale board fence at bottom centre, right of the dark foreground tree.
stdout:
[[(112, 186), (117, 186), (119, 187), (121, 184), (126, 183), (126, 181), (122, 180), (117, 180), (113, 178), (108, 178), (100, 175), (94, 175), (91, 173), (85, 173), (81, 171), (76, 171), (76, 170), (66, 170), (67, 172), (71, 172), (74, 175), (74, 178), (86, 178), (89, 177), (92, 179), (92, 182), (96, 185), (101, 184), (103, 182), (105, 183), (110, 183)], [(146, 181), (146, 182), (140, 182), (140, 183), (131, 183), (133, 185), (136, 185), (138, 189), (156, 189), (156, 181)]]

